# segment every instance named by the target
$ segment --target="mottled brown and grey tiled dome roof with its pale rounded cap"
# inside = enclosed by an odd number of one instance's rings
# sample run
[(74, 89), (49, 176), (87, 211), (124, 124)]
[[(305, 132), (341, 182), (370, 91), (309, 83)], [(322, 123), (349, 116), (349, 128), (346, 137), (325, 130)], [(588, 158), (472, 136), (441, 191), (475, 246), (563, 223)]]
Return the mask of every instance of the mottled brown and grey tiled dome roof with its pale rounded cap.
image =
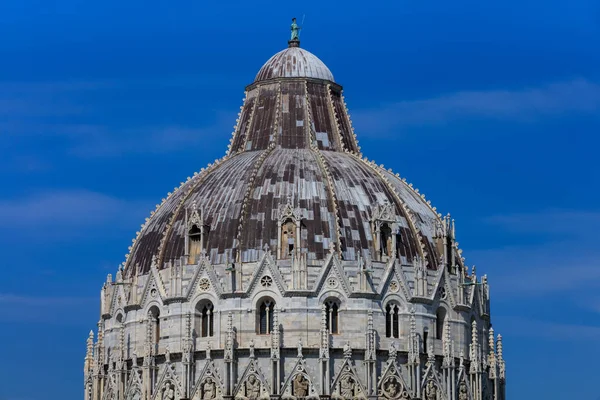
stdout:
[[(273, 79), (279, 78), (279, 79)], [(316, 78), (317, 80), (286, 78)], [(320, 81), (322, 80), (322, 81)], [(319, 263), (332, 243), (344, 260), (380, 251), (374, 218), (386, 209), (402, 263), (439, 255), (435, 211), (405, 182), (361, 158), (341, 87), (314, 55), (289, 47), (248, 88), (228, 155), (184, 183), (142, 228), (128, 274), (145, 274), (186, 255), (187, 218), (200, 212), (210, 262), (256, 262), (279, 244), (280, 209), (301, 218), (301, 252)]]

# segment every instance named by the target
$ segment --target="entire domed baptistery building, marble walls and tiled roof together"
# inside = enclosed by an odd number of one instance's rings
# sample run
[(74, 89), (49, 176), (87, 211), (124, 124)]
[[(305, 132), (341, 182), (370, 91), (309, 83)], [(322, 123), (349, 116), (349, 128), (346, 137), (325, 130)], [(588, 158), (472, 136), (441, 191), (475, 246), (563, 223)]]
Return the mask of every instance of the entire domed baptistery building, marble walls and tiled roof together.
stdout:
[(291, 40), (236, 122), (103, 285), (85, 398), (504, 400), (487, 278), (362, 156), (329, 69)]

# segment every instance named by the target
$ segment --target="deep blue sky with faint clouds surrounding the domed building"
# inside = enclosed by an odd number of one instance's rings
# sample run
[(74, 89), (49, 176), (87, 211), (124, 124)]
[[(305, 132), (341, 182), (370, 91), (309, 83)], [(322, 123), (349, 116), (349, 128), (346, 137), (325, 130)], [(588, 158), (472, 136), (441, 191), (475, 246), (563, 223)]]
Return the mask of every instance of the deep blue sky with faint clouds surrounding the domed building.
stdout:
[(600, 396), (600, 3), (20, 0), (0, 3), (1, 400), (81, 398), (106, 274), (224, 155), (303, 14), (365, 156), (488, 274), (508, 398)]

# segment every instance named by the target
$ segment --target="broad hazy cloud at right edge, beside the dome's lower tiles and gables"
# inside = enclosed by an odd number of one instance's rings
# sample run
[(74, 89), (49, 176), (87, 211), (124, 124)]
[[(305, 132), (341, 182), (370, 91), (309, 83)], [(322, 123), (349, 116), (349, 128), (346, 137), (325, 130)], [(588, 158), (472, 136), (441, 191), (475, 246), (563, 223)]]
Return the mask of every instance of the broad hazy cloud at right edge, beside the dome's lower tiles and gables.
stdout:
[(506, 298), (600, 290), (600, 250), (595, 211), (550, 210), (486, 218), (507, 233), (529, 235), (536, 242), (469, 252), (493, 275), (492, 289)]

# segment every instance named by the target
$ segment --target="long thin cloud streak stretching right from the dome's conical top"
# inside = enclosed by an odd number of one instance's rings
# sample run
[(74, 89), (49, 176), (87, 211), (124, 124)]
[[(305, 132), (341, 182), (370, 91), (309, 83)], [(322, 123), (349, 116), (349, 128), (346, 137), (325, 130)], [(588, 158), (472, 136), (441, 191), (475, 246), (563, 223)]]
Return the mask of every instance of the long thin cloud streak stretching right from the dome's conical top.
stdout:
[(364, 135), (464, 119), (536, 121), (571, 113), (600, 111), (600, 84), (585, 79), (518, 90), (462, 91), (357, 110), (353, 121)]

